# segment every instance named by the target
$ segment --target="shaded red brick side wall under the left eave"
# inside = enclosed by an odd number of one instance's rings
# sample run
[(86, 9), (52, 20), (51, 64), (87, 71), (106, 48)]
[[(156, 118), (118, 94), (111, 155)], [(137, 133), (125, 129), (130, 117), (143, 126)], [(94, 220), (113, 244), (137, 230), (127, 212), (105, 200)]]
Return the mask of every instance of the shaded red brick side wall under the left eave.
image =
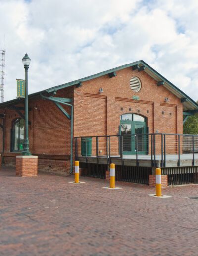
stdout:
[[(57, 97), (72, 98), (73, 88), (60, 90)], [(23, 106), (22, 104), (18, 106)], [(30, 100), (29, 107), (29, 142), (30, 151), (32, 154), (45, 154), (48, 155), (69, 155), (71, 145), (71, 122), (67, 117), (58, 109), (58, 107), (49, 100), (42, 100), (35, 98)], [(36, 109), (35, 109), (36, 108)], [(71, 114), (71, 108), (63, 106), (63, 108)], [(15, 110), (5, 109), (5, 164), (15, 165), (15, 155), (10, 152), (10, 138), (12, 121), (20, 116)], [(24, 111), (21, 111), (24, 114)], [(1, 119), (0, 119), (1, 120)], [(0, 121), (1, 122), (1, 121)], [(2, 129), (0, 128), (0, 136), (2, 137)], [(0, 152), (2, 151), (2, 139), (0, 137)], [(69, 161), (53, 160), (43, 161), (39, 159), (39, 167), (43, 171), (50, 169), (50, 172), (68, 173)], [(45, 165), (46, 163), (46, 165)], [(49, 167), (51, 166), (51, 167)]]

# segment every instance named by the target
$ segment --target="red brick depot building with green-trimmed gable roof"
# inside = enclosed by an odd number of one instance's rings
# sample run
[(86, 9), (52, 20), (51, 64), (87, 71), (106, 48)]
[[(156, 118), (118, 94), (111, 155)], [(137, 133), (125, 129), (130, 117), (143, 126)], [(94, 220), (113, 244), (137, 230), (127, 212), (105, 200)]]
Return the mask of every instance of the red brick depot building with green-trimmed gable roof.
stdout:
[[(30, 151), (38, 155), (40, 170), (68, 173), (76, 146), (73, 143), (71, 148), (72, 137), (182, 134), (183, 117), (186, 120), (197, 111), (198, 105), (190, 97), (138, 61), (29, 95)], [(23, 149), (23, 134), (24, 100), (1, 103), (0, 152), (5, 164), (15, 164), (15, 156)], [(123, 139), (123, 154), (136, 154), (133, 137)], [(148, 140), (140, 138), (139, 154), (150, 154)], [(101, 139), (92, 154), (105, 155), (105, 143)], [(171, 145), (174, 143), (171, 139)], [(118, 147), (115, 139), (114, 154), (120, 153)], [(176, 154), (178, 146), (174, 150)]]

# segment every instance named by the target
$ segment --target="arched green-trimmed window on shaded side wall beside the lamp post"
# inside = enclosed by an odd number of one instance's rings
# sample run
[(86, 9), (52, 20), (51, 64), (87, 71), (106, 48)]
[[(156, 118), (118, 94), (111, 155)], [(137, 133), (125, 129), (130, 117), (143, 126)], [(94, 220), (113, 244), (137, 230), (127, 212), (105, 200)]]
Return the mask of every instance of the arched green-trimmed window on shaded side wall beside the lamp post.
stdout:
[(12, 150), (22, 151), (24, 140), (24, 119), (17, 118), (12, 123)]

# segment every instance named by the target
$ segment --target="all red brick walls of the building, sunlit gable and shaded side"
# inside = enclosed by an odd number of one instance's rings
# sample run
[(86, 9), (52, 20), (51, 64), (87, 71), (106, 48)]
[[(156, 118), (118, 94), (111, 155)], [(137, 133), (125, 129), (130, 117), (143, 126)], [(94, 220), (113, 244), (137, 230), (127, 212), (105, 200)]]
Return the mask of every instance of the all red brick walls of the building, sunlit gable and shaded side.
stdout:
[[(157, 130), (159, 133), (182, 133), (183, 109), (180, 99), (164, 86), (157, 86), (157, 82), (144, 71), (133, 71), (130, 67), (116, 73), (117, 76), (113, 78), (105, 75), (83, 82), (82, 87), (73, 86), (57, 92), (57, 97), (73, 98), (74, 136), (115, 135), (118, 133), (120, 115), (124, 113), (137, 113), (145, 116), (150, 133)], [(129, 86), (132, 76), (139, 77), (142, 83), (142, 88), (137, 93), (133, 92)], [(101, 87), (104, 92), (99, 94)], [(140, 100), (133, 100), (134, 95), (139, 96)], [(165, 97), (169, 98), (168, 103), (164, 102)], [(30, 100), (29, 107), (32, 108), (29, 112), (29, 120), (32, 122), (29, 125), (31, 152), (45, 155), (70, 154), (71, 122), (53, 102), (48, 100), (34, 98)], [(70, 108), (64, 108), (70, 114)], [(6, 113), (5, 152), (9, 152), (11, 125), (18, 114), (15, 110), (3, 109), (2, 111)], [(2, 132), (1, 129), (0, 132)], [(157, 141), (160, 143), (160, 138)], [(174, 153), (177, 145), (172, 140), (170, 141), (171, 153)], [(93, 144), (96, 144), (94, 140)], [(117, 154), (118, 141), (114, 139), (111, 145), (112, 149), (114, 148), (113, 154)], [(99, 139), (99, 150), (102, 150), (99, 155), (106, 153), (105, 139)], [(93, 146), (93, 154), (95, 153)], [(5, 161), (8, 162), (8, 158)], [(48, 165), (46, 169), (49, 169)], [(67, 172), (66, 169), (65, 172)]]

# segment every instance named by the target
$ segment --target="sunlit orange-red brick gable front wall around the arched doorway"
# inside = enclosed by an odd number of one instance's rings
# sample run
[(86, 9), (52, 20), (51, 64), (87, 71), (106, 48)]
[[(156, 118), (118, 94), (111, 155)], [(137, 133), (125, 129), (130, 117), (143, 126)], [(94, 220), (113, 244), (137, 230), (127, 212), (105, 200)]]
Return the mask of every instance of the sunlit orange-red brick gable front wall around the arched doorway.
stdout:
[[(150, 133), (183, 132), (183, 107), (179, 98), (164, 86), (157, 86), (157, 82), (144, 71), (133, 71), (130, 67), (116, 73), (117, 76), (113, 78), (105, 75), (83, 82), (82, 87), (75, 88), (74, 136), (115, 135), (119, 132), (120, 115), (124, 113), (145, 116)], [(129, 81), (132, 76), (141, 80), (142, 88), (139, 92), (130, 89)], [(99, 94), (99, 88), (103, 88), (102, 94)], [(139, 96), (140, 100), (133, 100), (134, 95)], [(170, 100), (168, 103), (164, 102), (166, 97)], [(176, 153), (176, 139), (167, 139), (170, 141), (169, 153)], [(161, 137), (158, 136), (156, 143), (160, 141)], [(117, 145), (115, 139), (114, 144)], [(101, 149), (105, 151), (102, 145), (99, 150)]]

